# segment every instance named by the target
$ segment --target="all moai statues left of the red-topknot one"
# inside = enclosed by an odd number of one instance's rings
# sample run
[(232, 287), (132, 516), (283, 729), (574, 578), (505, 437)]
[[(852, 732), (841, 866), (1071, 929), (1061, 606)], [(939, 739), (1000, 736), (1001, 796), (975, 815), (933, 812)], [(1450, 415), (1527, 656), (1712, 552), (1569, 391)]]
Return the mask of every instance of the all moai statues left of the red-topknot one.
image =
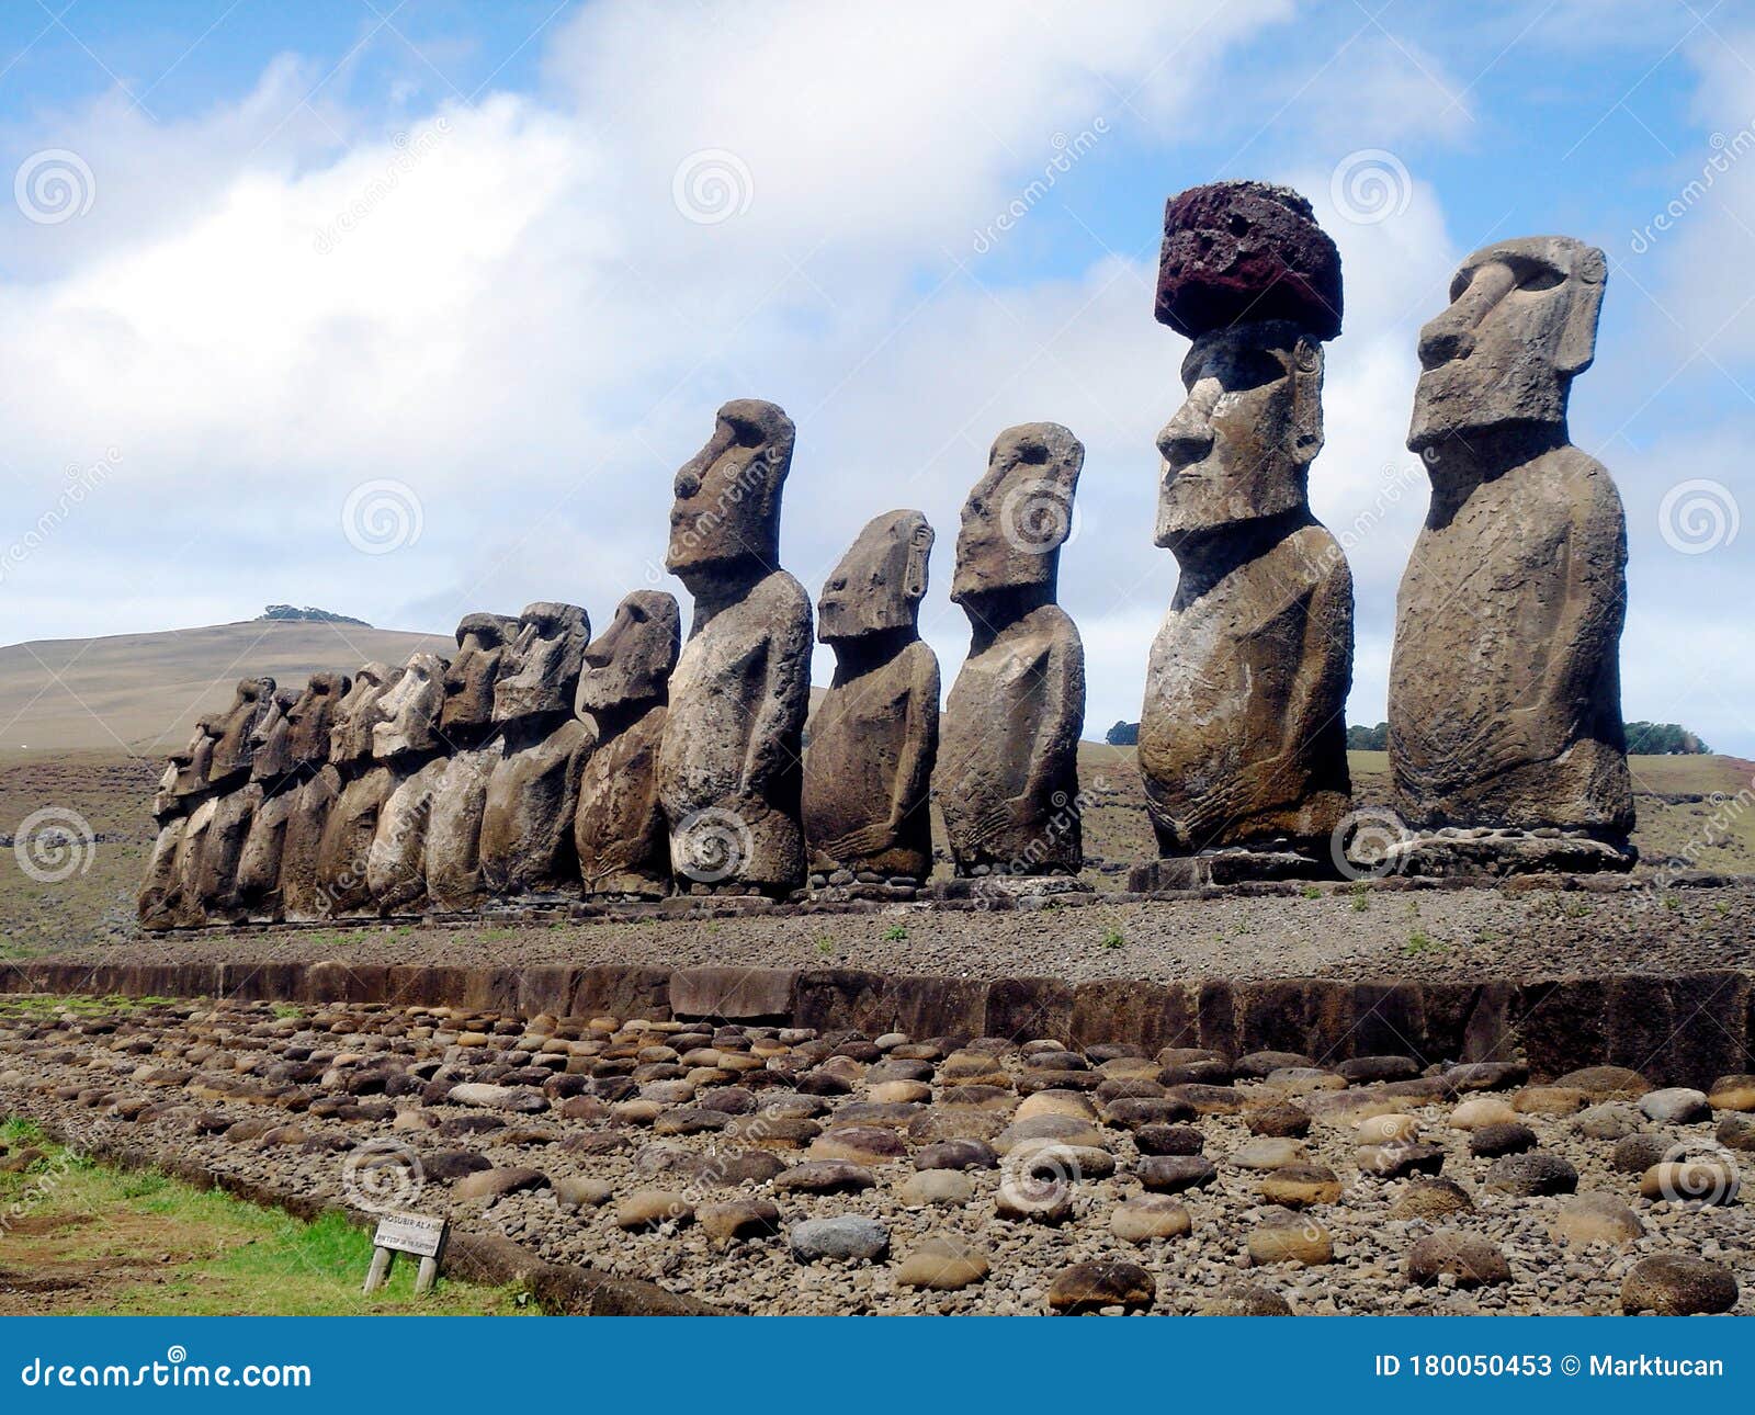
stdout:
[[(942, 743), (918, 623), (934, 532), (918, 511), (870, 521), (825, 585), (837, 667), (806, 734), (811, 602), (777, 567), (792, 449), (781, 409), (732, 402), (677, 472), (667, 564), (695, 600), (686, 643), (676, 599), (642, 590), (597, 639), (577, 606), (532, 604), (467, 616), (449, 662), (414, 653), (297, 693), (240, 681), (170, 758), (142, 923), (809, 885), (913, 897), (946, 764), (960, 871), (1074, 874), (1083, 650), (1053, 602), (1064, 518), (1046, 532), (1028, 518), (1041, 499), (1071, 507), (1083, 448), (1053, 425), (993, 446), (958, 539), (953, 597), (976, 648)], [(1041, 832), (1044, 816), (1062, 823)]]

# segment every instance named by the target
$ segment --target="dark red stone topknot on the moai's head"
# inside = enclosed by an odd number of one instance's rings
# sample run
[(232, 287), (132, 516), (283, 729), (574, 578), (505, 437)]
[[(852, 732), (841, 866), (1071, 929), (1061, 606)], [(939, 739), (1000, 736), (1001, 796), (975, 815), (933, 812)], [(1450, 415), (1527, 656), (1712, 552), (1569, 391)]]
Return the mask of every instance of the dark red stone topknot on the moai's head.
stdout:
[(1164, 207), (1158, 323), (1188, 339), (1290, 320), (1316, 339), (1341, 332), (1341, 253), (1311, 204), (1285, 186), (1193, 186)]

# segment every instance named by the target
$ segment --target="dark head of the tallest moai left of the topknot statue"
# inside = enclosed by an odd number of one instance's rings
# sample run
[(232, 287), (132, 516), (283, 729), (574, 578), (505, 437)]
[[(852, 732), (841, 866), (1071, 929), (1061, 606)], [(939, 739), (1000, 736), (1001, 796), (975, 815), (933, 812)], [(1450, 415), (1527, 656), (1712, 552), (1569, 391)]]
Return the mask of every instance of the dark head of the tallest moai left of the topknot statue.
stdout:
[(792, 418), (770, 402), (741, 399), (720, 409), (707, 446), (676, 474), (665, 567), (684, 585), (742, 562), (779, 565), (779, 497), (793, 439)]

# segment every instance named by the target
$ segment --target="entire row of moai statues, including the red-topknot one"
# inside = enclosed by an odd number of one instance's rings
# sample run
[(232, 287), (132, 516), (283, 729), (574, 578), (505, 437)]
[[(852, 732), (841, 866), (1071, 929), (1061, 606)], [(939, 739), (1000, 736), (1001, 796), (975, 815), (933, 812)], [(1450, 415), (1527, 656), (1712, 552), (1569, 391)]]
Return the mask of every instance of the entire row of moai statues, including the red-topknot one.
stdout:
[[(1400, 829), (1364, 867), (1634, 858), (1625, 520), (1565, 428), (1602, 284), (1581, 242), (1499, 242), (1420, 335), (1409, 448), (1432, 502), (1390, 672)], [(1353, 586), (1307, 493), (1339, 253), (1295, 191), (1193, 188), (1165, 211), (1157, 318), (1192, 348), (1158, 435), (1157, 542), (1181, 574), (1139, 736), (1160, 858), (1132, 883), (1355, 869)], [(677, 472), (667, 567), (693, 597), (686, 641), (676, 600), (637, 592), (597, 639), (583, 609), (544, 602), (470, 614), (449, 662), (416, 653), (298, 693), (244, 679), (165, 772), (142, 922), (911, 895), (932, 871), (932, 799), (956, 876), (1083, 888), (1085, 655), (1057, 604), (1083, 446), (1057, 423), (993, 442), (956, 541), (951, 600), (972, 639), (942, 729), (918, 511), (870, 521), (828, 578), (816, 628), (835, 672), (811, 711), (811, 604), (779, 569), (792, 453), (779, 407), (732, 402)]]

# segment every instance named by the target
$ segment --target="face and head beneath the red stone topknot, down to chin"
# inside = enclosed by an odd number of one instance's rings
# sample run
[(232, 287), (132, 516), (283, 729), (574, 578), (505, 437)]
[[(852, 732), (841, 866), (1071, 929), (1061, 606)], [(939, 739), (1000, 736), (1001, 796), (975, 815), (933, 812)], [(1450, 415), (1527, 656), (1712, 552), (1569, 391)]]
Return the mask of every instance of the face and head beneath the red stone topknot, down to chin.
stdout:
[(1188, 397), (1158, 434), (1160, 546), (1306, 504), (1322, 449), (1322, 346), (1278, 320), (1193, 342)]

